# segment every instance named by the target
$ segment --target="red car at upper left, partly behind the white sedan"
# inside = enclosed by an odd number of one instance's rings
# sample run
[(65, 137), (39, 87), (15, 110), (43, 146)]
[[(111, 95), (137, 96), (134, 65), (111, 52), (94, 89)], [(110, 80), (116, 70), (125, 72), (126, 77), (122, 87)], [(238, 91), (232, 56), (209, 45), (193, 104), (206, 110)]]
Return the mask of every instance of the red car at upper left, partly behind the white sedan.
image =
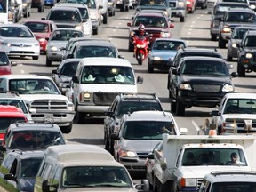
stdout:
[(45, 38), (52, 35), (52, 31), (57, 28), (56, 24), (52, 20), (26, 20), (23, 24), (34, 33), (39, 41), (40, 51), (45, 54), (46, 44), (48, 43)]

